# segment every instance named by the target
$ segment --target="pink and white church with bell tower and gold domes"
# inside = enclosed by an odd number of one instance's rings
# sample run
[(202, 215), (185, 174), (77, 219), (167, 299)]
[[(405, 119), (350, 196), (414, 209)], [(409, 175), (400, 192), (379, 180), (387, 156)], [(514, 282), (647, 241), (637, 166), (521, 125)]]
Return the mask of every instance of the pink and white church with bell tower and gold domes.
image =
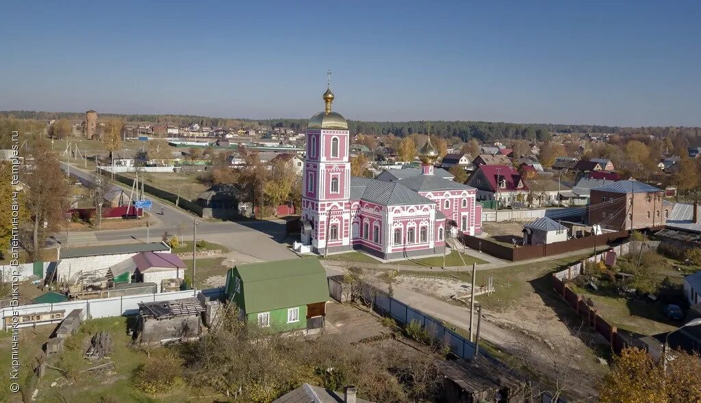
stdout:
[(444, 253), (447, 236), (482, 232), (475, 187), (434, 175), (430, 139), (421, 171), (398, 180), (351, 177), (348, 123), (334, 94), (306, 130), (301, 242), (315, 253), (360, 249), (385, 259)]

